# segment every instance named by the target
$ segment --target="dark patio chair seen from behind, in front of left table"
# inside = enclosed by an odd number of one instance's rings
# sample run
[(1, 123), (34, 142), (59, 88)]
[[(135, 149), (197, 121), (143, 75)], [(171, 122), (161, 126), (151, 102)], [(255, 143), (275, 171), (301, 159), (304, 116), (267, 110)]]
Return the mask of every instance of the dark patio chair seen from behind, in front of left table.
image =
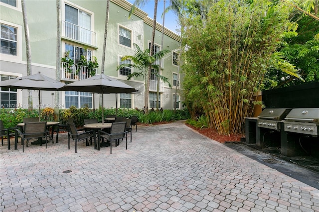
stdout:
[(46, 121), (25, 122), (23, 132), (20, 129), (16, 129), (16, 131), (22, 139), (22, 152), (24, 152), (24, 140), (28, 146), (30, 139), (39, 139), (40, 145), (42, 145), (42, 138), (45, 137), (45, 148), (47, 148), (49, 131), (46, 129)]

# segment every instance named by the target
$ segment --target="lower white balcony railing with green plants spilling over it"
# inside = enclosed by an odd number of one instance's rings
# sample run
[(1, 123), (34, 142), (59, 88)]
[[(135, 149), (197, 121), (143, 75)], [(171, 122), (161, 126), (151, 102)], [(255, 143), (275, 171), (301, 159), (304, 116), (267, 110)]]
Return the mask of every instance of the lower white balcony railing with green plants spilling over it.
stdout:
[(79, 65), (70, 66), (68, 63), (62, 63), (61, 69), (61, 79), (63, 80), (83, 80), (97, 75), (98, 71), (96, 68), (92, 69), (87, 66)]

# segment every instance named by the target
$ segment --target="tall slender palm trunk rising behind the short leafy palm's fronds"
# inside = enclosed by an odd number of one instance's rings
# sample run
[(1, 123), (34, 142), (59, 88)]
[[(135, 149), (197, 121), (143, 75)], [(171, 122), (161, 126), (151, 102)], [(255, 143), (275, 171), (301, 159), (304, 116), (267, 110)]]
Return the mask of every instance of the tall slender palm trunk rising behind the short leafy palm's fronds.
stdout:
[[(156, 30), (156, 16), (157, 16), (157, 10), (158, 10), (158, 2), (159, 2), (159, 0), (155, 0), (155, 2), (154, 2), (153, 31), (152, 31), (151, 49), (150, 49), (151, 56), (153, 56), (153, 54), (154, 54), (154, 39), (155, 39), (155, 30)], [(149, 110), (148, 106), (149, 106), (149, 96), (150, 96), (151, 74), (152, 74), (152, 65), (149, 66), (149, 72), (148, 72), (148, 76), (147, 76), (145, 103), (144, 103), (146, 113), (148, 113), (148, 110)]]

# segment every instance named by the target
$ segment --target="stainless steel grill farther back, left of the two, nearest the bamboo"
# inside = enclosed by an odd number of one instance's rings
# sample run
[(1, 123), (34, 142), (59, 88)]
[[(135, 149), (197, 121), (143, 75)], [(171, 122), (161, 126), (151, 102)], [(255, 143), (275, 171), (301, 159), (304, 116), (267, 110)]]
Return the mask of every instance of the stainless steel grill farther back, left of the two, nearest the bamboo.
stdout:
[(267, 108), (264, 109), (257, 119), (257, 126), (280, 130), (280, 121), (291, 111), (290, 108)]

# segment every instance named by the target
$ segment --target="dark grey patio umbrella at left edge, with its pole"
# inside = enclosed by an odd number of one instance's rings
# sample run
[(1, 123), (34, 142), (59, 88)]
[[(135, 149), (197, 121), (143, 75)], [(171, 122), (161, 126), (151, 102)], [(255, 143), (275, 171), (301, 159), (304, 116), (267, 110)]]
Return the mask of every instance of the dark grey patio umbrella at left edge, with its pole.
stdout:
[(43, 91), (57, 91), (62, 88), (65, 84), (59, 81), (53, 80), (47, 76), (42, 75), (40, 72), (38, 74), (33, 74), (25, 77), (17, 77), (10, 80), (5, 80), (1, 82), (1, 88), (10, 89), (28, 89), (39, 91), (39, 121), (41, 117), (41, 90)]

